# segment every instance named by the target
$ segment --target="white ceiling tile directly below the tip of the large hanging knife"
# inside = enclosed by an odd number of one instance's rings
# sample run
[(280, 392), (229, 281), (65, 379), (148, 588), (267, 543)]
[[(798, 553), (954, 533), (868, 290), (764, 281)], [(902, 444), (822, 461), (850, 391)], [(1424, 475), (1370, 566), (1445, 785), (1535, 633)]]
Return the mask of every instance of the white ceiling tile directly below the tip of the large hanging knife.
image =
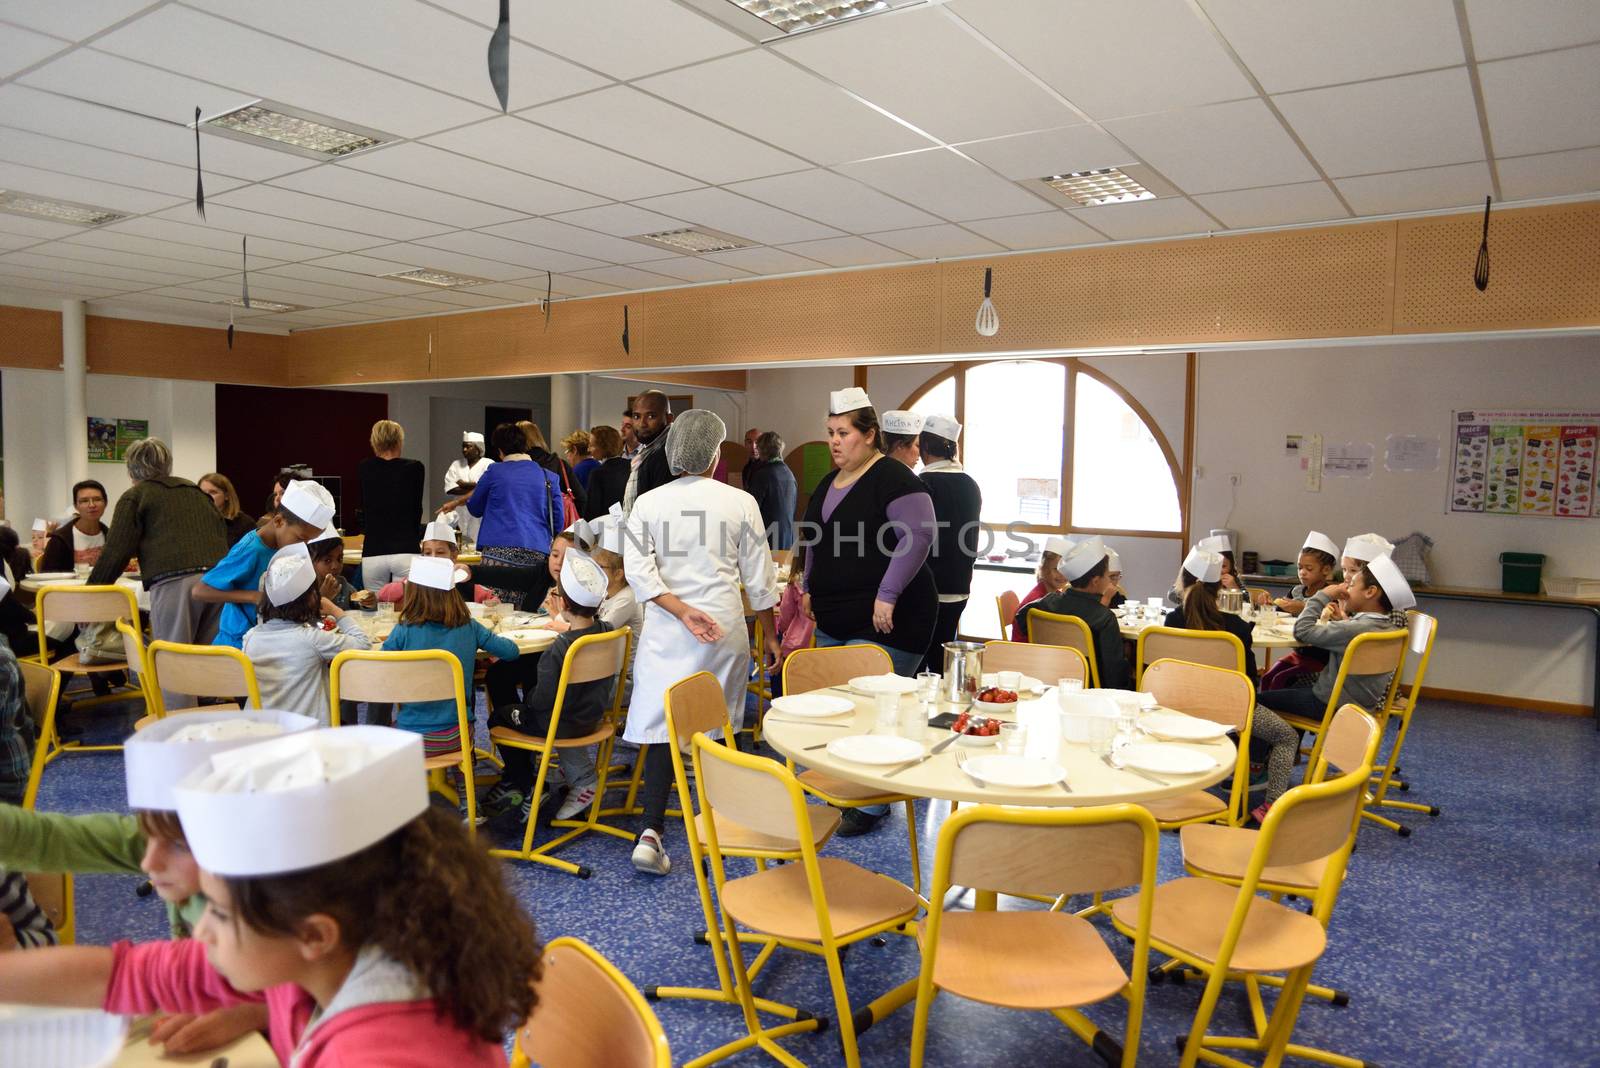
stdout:
[(693, 177), (534, 126), (515, 115), (451, 130), (429, 137), (429, 144), (613, 200), (637, 200), (699, 185)]

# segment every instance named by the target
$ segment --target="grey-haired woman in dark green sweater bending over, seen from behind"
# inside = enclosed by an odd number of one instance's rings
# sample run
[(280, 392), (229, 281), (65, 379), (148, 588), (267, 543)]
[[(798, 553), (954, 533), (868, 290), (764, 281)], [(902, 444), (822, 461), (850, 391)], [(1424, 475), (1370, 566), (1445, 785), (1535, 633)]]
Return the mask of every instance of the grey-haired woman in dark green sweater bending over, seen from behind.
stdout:
[[(133, 486), (117, 499), (90, 585), (115, 582), (138, 556), (139, 580), (150, 592), (150, 636), (211, 644), (221, 604), (200, 604), (189, 592), (227, 555), (227, 524), (206, 491), (173, 475), (173, 451), (160, 438), (130, 444), (126, 465)], [(194, 703), (179, 694), (165, 700), (168, 708)]]

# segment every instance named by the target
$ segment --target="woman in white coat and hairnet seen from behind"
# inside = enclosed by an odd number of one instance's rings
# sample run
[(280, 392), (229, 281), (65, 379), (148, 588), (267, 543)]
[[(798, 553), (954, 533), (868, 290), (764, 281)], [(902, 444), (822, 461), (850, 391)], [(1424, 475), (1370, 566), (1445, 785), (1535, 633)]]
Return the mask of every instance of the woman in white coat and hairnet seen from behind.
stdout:
[(669, 686), (696, 671), (722, 679), (728, 716), (744, 723), (750, 648), (742, 585), (762, 617), (765, 656), (778, 662), (773, 606), (776, 572), (755, 497), (710, 478), (728, 428), (715, 412), (691, 409), (667, 430), (667, 465), (675, 478), (640, 494), (627, 516), (622, 560), (627, 584), (645, 606), (645, 635), (634, 657), (634, 697), (622, 737), (645, 750), (645, 830), (634, 867), (672, 870), (661, 846), (672, 755), (662, 700)]

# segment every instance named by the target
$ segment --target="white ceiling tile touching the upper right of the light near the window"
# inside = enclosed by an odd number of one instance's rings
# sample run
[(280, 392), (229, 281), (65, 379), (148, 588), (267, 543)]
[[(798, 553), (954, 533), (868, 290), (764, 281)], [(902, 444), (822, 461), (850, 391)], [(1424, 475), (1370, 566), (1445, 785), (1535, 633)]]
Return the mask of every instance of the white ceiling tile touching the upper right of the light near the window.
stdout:
[(1187, 193), (1317, 177), (1283, 123), (1258, 99), (1117, 118), (1106, 130)]

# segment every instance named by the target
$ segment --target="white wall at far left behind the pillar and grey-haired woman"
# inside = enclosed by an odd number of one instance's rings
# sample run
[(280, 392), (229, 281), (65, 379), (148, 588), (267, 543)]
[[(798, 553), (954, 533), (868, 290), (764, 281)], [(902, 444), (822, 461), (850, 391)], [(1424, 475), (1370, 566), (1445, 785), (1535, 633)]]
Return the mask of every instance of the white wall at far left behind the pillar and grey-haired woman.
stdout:
[[(173, 449), (173, 473), (198, 478), (216, 468), (216, 387), (211, 382), (90, 374), (86, 385), (90, 416), (149, 419), (150, 435)], [(61, 373), (0, 369), (0, 395), (5, 404), (5, 515), (19, 531), (27, 531), (35, 516), (58, 518), (72, 504), (72, 483), (61, 454)], [(112, 507), (130, 486), (122, 464), (90, 464), (90, 478), (106, 486)]]

